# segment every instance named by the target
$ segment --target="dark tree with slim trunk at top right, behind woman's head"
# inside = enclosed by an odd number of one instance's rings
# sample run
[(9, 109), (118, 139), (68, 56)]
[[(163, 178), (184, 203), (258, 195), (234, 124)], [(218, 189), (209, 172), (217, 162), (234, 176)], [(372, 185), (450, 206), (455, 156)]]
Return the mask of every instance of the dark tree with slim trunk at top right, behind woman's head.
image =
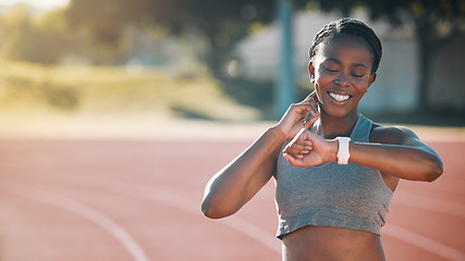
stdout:
[[(297, 2), (305, 2), (295, 0)], [(435, 54), (449, 41), (465, 34), (465, 0), (315, 0), (322, 11), (350, 16), (365, 7), (371, 20), (387, 18), (392, 25), (409, 23), (415, 28), (419, 64), (419, 110), (430, 110), (429, 89)]]

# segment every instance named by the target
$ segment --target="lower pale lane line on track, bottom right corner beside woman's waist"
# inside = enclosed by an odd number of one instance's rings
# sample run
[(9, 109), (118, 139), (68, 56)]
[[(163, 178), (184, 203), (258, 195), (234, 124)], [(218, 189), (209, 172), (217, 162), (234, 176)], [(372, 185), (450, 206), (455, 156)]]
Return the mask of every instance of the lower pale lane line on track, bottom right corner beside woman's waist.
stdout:
[(452, 261), (463, 261), (465, 260), (465, 253), (445, 246), (441, 243), (435, 241), (426, 236), (421, 236), (415, 232), (412, 232), (406, 228), (393, 224), (387, 224), (381, 229), (382, 235), (394, 237), (399, 240), (405, 241), (418, 248), (421, 248), (428, 252), (436, 253), (440, 257), (443, 257)]

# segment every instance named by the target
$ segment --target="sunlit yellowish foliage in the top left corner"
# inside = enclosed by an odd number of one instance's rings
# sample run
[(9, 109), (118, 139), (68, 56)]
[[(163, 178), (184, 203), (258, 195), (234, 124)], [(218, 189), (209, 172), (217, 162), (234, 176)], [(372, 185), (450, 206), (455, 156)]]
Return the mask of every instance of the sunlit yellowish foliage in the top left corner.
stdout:
[(66, 60), (79, 63), (114, 63), (123, 52), (120, 42), (105, 45), (89, 32), (72, 30), (66, 9), (33, 14), (17, 4), (0, 16), (0, 57), (8, 60), (58, 64)]

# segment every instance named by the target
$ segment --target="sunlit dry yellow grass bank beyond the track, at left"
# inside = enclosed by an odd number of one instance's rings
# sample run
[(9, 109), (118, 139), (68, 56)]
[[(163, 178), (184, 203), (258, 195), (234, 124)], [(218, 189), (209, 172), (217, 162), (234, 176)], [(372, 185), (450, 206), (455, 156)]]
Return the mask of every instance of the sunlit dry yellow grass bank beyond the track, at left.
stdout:
[(257, 110), (237, 104), (208, 76), (146, 69), (0, 63), (0, 113), (160, 113), (209, 120), (256, 120)]

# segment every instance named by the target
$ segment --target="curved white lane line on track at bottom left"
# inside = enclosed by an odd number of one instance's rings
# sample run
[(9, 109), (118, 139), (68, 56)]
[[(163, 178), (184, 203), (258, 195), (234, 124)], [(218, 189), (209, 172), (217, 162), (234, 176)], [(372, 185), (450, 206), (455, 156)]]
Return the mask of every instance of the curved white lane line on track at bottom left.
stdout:
[(101, 226), (103, 229), (113, 235), (131, 253), (135, 261), (149, 261), (146, 253), (137, 241), (118, 223), (112, 221), (110, 217), (98, 212), (97, 210), (87, 207), (78, 201), (63, 197), (61, 195), (36, 188), (29, 185), (20, 184), (16, 182), (9, 182), (2, 179), (8, 186), (8, 189), (20, 196), (26, 196), (33, 200), (40, 201), (60, 209), (68, 210), (76, 215), (87, 219), (95, 224)]

